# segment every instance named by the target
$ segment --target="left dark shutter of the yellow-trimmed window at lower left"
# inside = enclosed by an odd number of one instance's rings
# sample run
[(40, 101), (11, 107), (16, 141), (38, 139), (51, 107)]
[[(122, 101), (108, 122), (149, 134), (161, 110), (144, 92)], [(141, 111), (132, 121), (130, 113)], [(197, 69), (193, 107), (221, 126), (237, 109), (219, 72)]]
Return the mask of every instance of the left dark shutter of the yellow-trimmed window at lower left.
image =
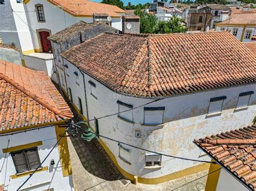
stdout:
[(26, 165), (26, 158), (23, 151), (11, 152), (11, 157), (12, 157), (12, 160), (14, 161), (14, 165), (17, 173), (29, 171), (29, 168)]

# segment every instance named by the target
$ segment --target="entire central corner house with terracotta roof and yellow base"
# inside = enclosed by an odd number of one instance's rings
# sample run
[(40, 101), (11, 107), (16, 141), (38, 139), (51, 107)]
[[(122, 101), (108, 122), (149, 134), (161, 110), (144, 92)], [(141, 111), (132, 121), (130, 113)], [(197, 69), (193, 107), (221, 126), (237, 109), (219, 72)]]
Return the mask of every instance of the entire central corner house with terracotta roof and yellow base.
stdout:
[[(254, 121), (255, 94), (247, 103), (240, 95), (256, 88), (255, 56), (228, 32), (102, 33), (62, 57), (67, 76), (62, 88), (85, 120), (94, 119), (90, 127), (99, 135), (208, 161), (191, 139)], [(141, 183), (165, 182), (210, 166), (98, 140), (119, 171)]]

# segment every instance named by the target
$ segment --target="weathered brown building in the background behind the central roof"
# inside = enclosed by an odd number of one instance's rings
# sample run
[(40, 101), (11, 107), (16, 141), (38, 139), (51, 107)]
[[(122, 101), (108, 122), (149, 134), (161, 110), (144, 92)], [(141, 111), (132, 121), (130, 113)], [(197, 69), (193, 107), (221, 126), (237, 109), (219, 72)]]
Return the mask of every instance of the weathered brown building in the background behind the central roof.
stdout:
[(221, 4), (206, 4), (204, 6), (191, 5), (185, 11), (188, 31), (207, 31), (214, 28), (214, 24), (223, 21), (221, 13), (230, 13), (230, 8)]

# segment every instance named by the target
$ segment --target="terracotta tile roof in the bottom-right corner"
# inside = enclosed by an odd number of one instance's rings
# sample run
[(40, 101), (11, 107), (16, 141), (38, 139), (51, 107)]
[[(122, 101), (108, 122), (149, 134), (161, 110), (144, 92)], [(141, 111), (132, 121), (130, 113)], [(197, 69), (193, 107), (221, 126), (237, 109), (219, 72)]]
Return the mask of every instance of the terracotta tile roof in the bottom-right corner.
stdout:
[(200, 138), (195, 142), (241, 182), (256, 189), (255, 125)]

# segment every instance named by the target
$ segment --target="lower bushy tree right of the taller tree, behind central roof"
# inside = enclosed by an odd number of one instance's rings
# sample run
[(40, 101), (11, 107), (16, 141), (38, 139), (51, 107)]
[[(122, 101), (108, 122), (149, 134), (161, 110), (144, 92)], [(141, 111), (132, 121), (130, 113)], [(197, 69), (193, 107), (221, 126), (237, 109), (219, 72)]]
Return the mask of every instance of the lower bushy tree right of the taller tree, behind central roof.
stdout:
[(183, 19), (173, 16), (168, 21), (159, 21), (154, 29), (154, 33), (180, 33), (186, 32), (186, 27), (182, 25)]

